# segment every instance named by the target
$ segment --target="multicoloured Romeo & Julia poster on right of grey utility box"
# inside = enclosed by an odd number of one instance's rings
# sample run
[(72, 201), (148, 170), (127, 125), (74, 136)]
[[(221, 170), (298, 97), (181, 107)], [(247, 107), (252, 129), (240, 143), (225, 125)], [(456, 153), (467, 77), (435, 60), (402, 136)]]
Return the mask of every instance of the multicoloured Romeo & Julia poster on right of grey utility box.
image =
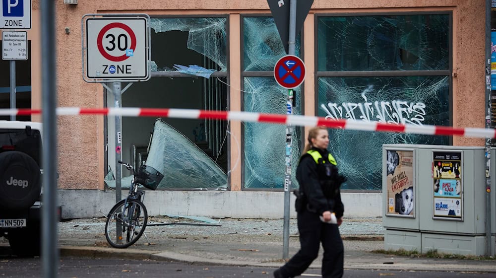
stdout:
[(433, 216), (462, 219), (462, 153), (433, 151)]

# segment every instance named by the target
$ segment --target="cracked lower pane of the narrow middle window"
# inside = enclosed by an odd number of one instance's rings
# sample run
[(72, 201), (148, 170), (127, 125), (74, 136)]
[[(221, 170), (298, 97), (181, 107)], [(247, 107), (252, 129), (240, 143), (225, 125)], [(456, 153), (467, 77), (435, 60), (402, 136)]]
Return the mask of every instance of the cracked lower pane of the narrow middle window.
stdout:
[[(288, 90), (281, 88), (273, 77), (245, 77), (244, 111), (286, 114)], [(293, 114), (301, 115), (301, 89), (295, 90)], [(285, 167), (286, 126), (244, 123), (244, 184), (245, 188), (283, 188)], [(297, 188), (296, 166), (300, 158), (301, 129), (293, 132), (291, 163), (292, 187)]]

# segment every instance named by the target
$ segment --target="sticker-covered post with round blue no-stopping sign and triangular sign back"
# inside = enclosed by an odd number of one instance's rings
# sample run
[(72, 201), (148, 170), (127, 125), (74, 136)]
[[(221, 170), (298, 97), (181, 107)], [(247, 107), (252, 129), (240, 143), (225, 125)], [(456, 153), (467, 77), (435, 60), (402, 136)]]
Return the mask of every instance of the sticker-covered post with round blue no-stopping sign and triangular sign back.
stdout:
[[(288, 89), (286, 101), (287, 115), (293, 114), (293, 89), (305, 79), (305, 64), (295, 56), (296, 33), (300, 32), (303, 22), (310, 11), (313, 0), (267, 0), (272, 17), (279, 31), (284, 49), (288, 56), (281, 58), (274, 67), (274, 78), (283, 88)], [(289, 205), (291, 195), (291, 144), (293, 128), (286, 127), (286, 175), (284, 177), (284, 227), (283, 227), (283, 259), (289, 258)]]

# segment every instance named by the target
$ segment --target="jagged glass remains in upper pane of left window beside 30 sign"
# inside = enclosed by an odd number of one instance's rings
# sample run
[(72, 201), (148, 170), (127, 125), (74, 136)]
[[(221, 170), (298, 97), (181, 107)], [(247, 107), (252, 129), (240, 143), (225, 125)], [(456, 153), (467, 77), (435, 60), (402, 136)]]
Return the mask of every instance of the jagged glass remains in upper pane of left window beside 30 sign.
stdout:
[[(187, 34), (185, 38), (187, 49), (204, 55), (219, 66), (221, 71), (226, 71), (226, 23), (226, 17), (151, 18), (150, 26), (155, 34), (168, 32), (170, 36), (160, 44), (156, 44), (157, 39), (152, 33), (152, 59), (157, 65), (156, 70), (174, 70), (174, 64), (190, 65), (191, 60), (188, 60), (189, 55), (182, 50), (183, 46), (179, 47), (180, 52), (169, 51), (169, 49), (178, 49), (178, 44), (183, 42), (183, 34)], [(164, 63), (166, 59), (172, 59), (172, 63)]]

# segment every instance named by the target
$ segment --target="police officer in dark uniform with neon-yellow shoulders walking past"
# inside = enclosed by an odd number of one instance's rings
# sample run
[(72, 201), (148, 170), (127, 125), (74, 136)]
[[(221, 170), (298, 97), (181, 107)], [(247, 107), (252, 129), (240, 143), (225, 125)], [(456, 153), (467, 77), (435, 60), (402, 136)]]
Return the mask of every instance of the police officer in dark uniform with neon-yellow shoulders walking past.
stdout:
[(317, 258), (320, 242), (324, 249), (322, 277), (343, 276), (344, 247), (338, 226), (343, 221), (344, 206), (339, 187), (346, 179), (338, 174), (328, 145), (326, 128), (310, 129), (308, 144), (296, 170), (300, 184), (296, 210), (301, 249), (274, 272), (275, 278), (301, 275)]

